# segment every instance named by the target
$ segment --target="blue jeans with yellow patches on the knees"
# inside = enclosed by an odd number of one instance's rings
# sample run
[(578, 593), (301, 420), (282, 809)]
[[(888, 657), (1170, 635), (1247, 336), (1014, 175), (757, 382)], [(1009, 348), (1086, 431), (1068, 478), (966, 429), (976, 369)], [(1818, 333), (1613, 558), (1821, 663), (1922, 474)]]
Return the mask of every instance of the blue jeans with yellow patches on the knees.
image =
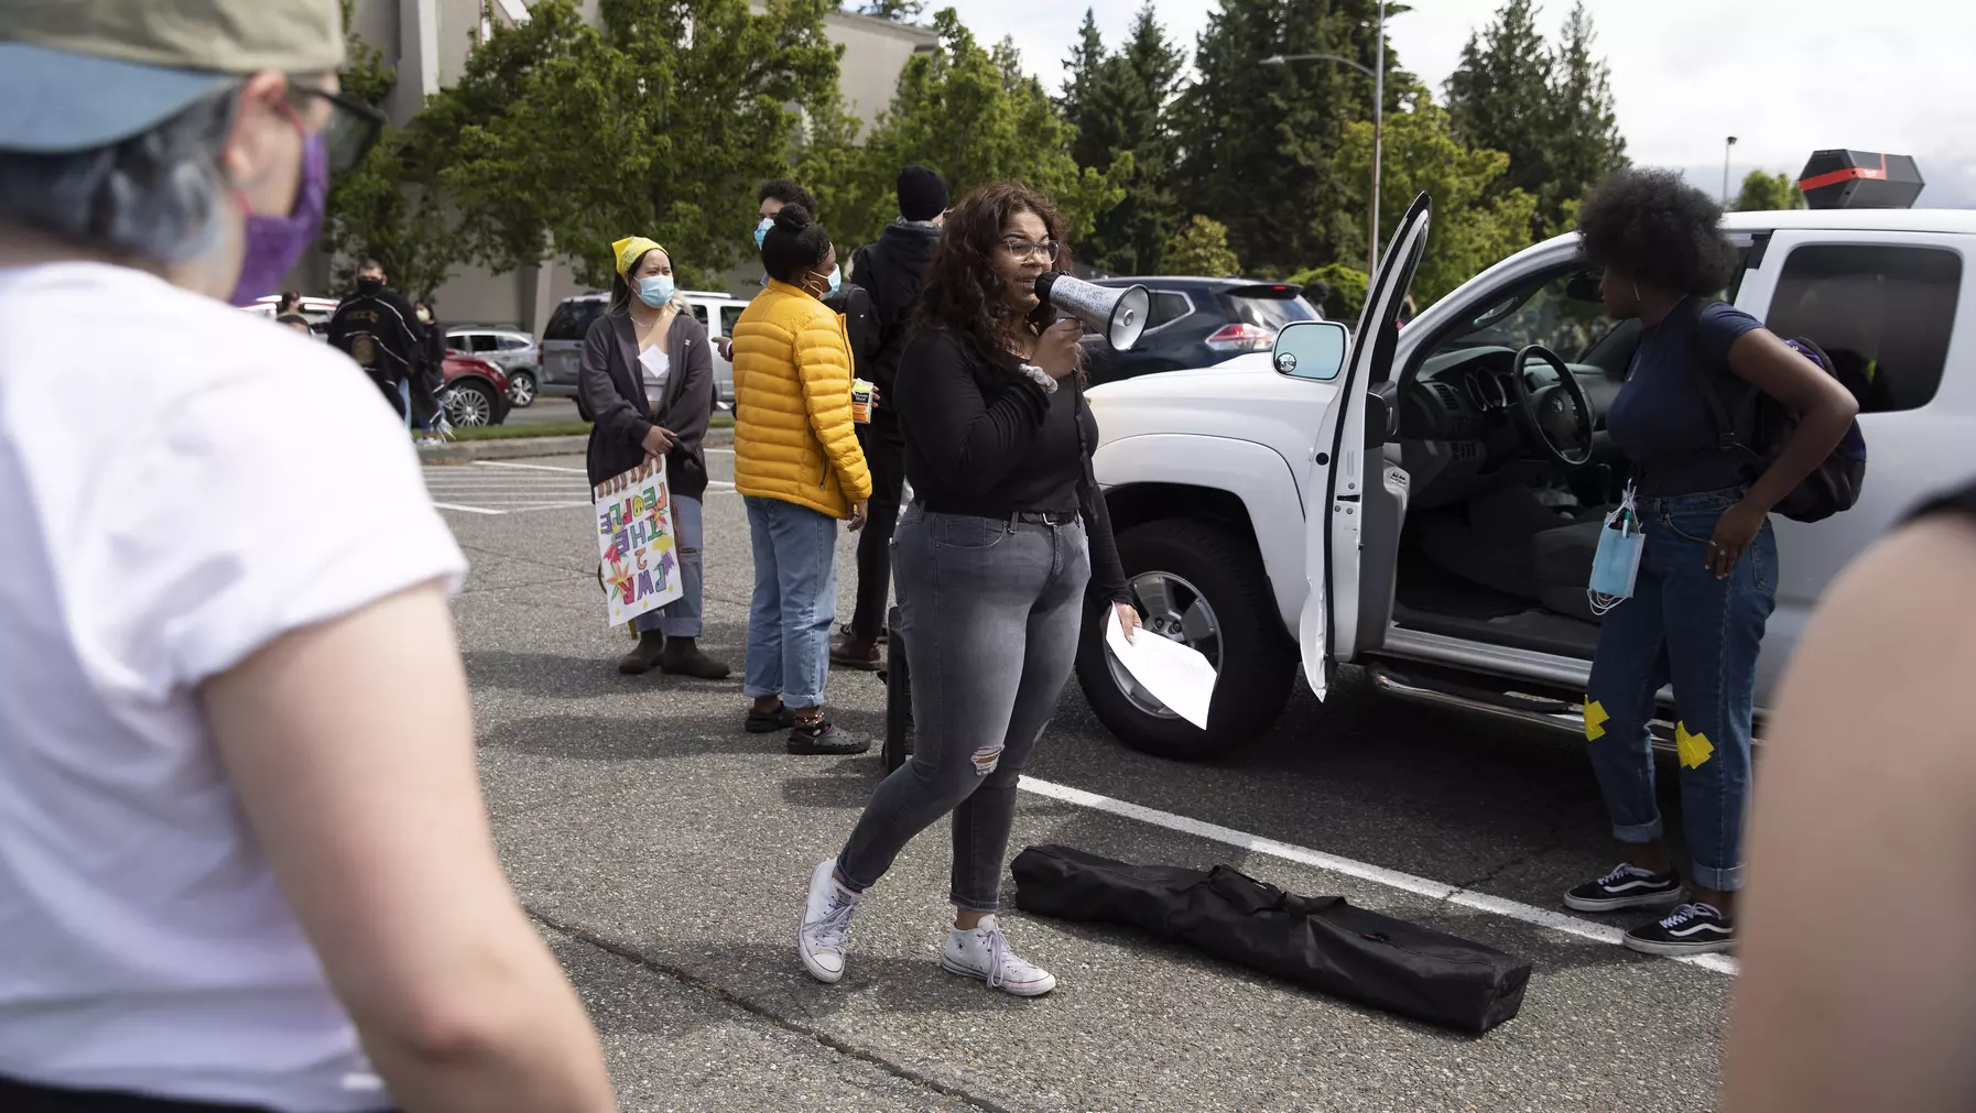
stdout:
[(1585, 693), (1593, 772), (1620, 843), (1662, 835), (1648, 720), (1674, 683), (1682, 821), (1693, 884), (1743, 886), (1757, 651), (1776, 604), (1776, 537), (1763, 525), (1727, 580), (1705, 566), (1709, 537), (1741, 489), (1640, 499), (1646, 549), (1632, 598), (1599, 628)]

